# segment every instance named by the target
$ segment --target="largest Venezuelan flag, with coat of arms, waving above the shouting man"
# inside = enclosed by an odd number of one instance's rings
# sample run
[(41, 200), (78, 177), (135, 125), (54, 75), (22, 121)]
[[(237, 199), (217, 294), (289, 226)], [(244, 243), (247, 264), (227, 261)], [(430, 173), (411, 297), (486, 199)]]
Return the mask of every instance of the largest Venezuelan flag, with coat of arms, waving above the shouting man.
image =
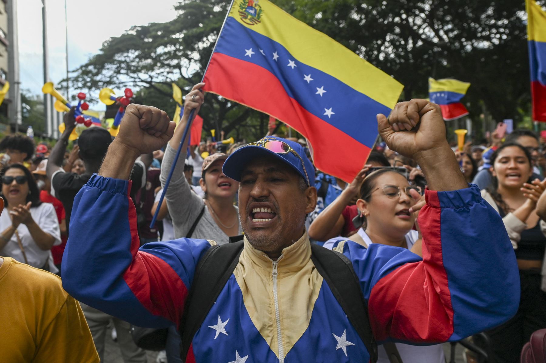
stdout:
[[(204, 89), (304, 135), (320, 170), (352, 181), (403, 86), (267, 0), (235, 0)], [(265, 135), (264, 135), (265, 136)]]

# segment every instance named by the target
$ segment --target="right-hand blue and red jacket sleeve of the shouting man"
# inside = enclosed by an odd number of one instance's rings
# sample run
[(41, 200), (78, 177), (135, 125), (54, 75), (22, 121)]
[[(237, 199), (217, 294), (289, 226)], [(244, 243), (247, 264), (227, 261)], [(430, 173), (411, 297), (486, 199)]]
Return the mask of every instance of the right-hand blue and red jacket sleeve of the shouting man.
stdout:
[(426, 192), (423, 259), (398, 247), (352, 241), (353, 262), (378, 341), (458, 341), (518, 310), (518, 265), (501, 217), (479, 189)]

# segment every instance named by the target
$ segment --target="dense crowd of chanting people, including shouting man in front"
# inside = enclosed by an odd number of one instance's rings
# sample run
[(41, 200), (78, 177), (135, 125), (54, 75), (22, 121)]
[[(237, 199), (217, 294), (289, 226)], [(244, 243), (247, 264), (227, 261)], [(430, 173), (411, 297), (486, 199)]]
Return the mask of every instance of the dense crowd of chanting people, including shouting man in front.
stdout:
[[(311, 245), (351, 262), (379, 362), (441, 363), (442, 342), (479, 332), (496, 362), (517, 362), (546, 328), (546, 150), (534, 132), (459, 150), (423, 100), (424, 116), (378, 118), (383, 142), (352, 181), (316, 170), (305, 139), (273, 130), (232, 147), (186, 139), (175, 163), (202, 86), (176, 128), (133, 105), (115, 139), (93, 126), (68, 151), (72, 111), (52, 148), (22, 135), (0, 142), (0, 285), (19, 291), (0, 312), (14, 332), (9, 352), (0, 343), (7, 361), (105, 361), (113, 326), (123, 360), (146, 362), (132, 324), (167, 329), (158, 362), (367, 361), (373, 349), (313, 268)], [(396, 122), (408, 131), (387, 127)], [(233, 274), (184, 346), (201, 257), (240, 240)]]

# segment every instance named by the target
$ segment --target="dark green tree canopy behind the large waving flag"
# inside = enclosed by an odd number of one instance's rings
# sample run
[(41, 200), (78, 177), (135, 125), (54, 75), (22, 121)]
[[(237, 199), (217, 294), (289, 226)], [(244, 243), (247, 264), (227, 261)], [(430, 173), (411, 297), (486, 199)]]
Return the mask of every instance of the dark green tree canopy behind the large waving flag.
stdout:
[[(237, 2), (237, 1), (235, 1)], [(464, 101), (474, 122), (520, 120), (530, 108), (523, 0), (277, 0), (404, 86), (402, 99), (428, 96), (428, 77), (471, 82)], [(541, 1), (544, 3), (544, 1)], [(185, 92), (203, 76), (230, 2), (185, 0), (166, 23), (134, 26), (106, 40), (73, 72), (76, 88), (132, 86), (135, 101), (173, 112), (170, 83)], [(170, 111), (173, 110), (173, 111)], [(205, 131), (258, 138), (267, 120), (257, 111), (207, 95)]]

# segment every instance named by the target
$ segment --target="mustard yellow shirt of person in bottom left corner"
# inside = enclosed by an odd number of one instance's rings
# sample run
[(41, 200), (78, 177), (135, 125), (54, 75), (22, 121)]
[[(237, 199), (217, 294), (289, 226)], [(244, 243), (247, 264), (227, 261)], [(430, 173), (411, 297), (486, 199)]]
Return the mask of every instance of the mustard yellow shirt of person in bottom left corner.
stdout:
[(0, 361), (98, 362), (78, 301), (61, 278), (3, 257), (0, 267)]

